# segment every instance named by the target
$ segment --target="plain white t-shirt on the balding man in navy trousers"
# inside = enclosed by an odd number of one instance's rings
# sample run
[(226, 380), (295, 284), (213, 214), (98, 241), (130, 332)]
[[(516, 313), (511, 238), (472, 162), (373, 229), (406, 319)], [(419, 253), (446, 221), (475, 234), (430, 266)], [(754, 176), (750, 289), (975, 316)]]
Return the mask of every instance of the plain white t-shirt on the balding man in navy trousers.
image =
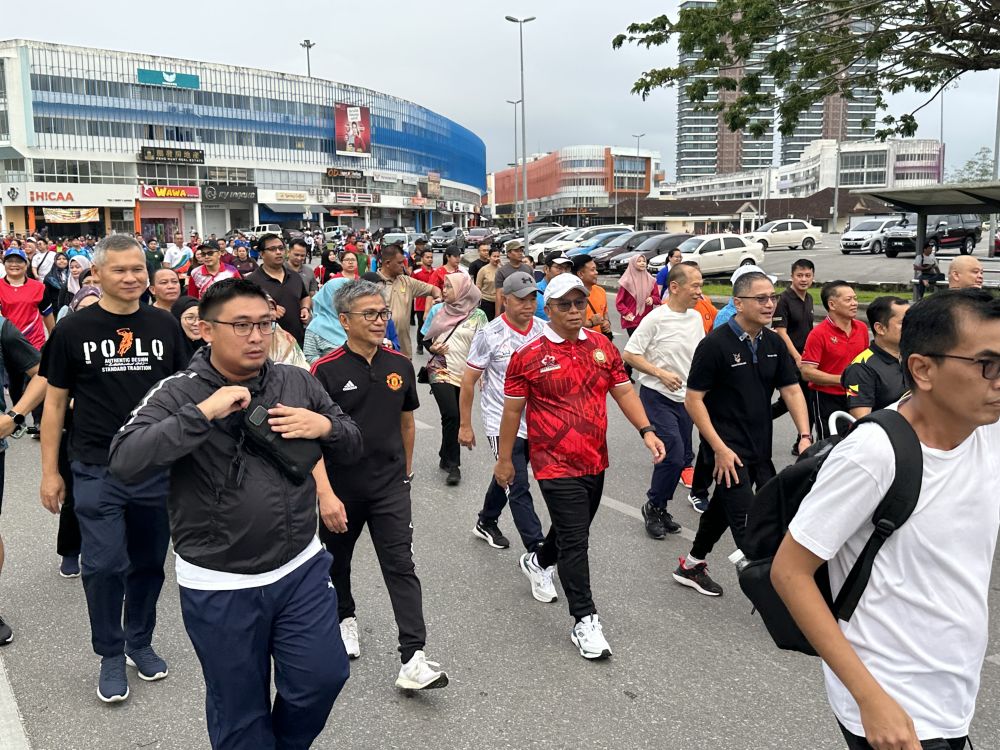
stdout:
[(645, 357), (662, 370), (669, 370), (681, 377), (684, 383), (672, 391), (659, 378), (635, 371), (636, 382), (666, 396), (671, 401), (684, 402), (687, 395), (687, 376), (691, 360), (699, 342), (705, 338), (705, 326), (697, 310), (674, 312), (667, 305), (660, 305), (642, 319), (625, 343), (625, 351)]

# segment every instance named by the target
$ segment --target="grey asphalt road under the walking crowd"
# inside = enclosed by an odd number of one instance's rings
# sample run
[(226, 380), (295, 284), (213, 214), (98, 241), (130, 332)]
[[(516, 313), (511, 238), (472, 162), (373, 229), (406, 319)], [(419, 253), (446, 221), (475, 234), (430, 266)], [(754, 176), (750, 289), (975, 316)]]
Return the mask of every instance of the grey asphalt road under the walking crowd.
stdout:
[[(782, 254), (784, 255), (784, 254)], [(424, 589), (428, 655), (448, 670), (444, 690), (404, 695), (396, 631), (367, 537), (354, 563), (362, 656), (318, 748), (693, 748), (744, 750), (842, 747), (826, 704), (818, 660), (775, 649), (739, 591), (727, 537), (710, 559), (725, 595), (710, 599), (670, 573), (688, 551), (697, 514), (679, 487), (671, 510), (685, 531), (649, 539), (639, 520), (650, 463), (635, 431), (612, 410), (607, 496), (593, 525), (595, 601), (614, 656), (580, 658), (560, 599), (531, 598), (517, 568), (521, 550), (490, 549), (472, 536), (492, 467), (485, 440), (463, 451), (462, 484), (444, 485), (437, 468), (438, 411), (426, 387), (417, 412), (413, 506), (417, 572)], [(477, 416), (477, 435), (480, 422)], [(790, 419), (776, 426), (776, 463), (791, 458)], [(0, 650), (16, 707), (3, 691), (0, 739), (23, 726), (35, 750), (208, 747), (204, 683), (181, 625), (168, 562), (155, 645), (170, 676), (131, 680), (124, 704), (101, 704), (98, 659), (79, 579), (56, 573), (56, 520), (38, 503), (37, 442), (7, 456), (3, 532), (7, 565), (0, 612), (16, 631)], [(536, 507), (544, 517), (536, 492)], [(509, 515), (501, 528), (516, 539)], [(1000, 747), (1000, 566), (994, 565), (988, 661), (973, 724), (976, 747)], [(919, 623), (914, 623), (919, 627)], [(234, 679), (239, 679), (234, 675)], [(6, 696), (6, 697), (5, 697)], [(19, 718), (18, 718), (19, 717)], [(6, 722), (6, 723), (5, 723)], [(23, 723), (22, 723), (23, 722)], [(8, 732), (5, 735), (3, 732)], [(0, 741), (3, 750), (22, 750)]]

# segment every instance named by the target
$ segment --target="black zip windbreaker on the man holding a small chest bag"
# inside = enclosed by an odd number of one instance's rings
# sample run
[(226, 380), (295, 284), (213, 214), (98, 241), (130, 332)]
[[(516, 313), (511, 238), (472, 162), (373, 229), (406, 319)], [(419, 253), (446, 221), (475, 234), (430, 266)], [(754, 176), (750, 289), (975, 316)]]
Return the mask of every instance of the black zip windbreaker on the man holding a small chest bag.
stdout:
[[(170, 469), (170, 533), (184, 560), (227, 573), (266, 573), (298, 555), (316, 534), (316, 483), (296, 485), (265, 458), (238, 448), (243, 413), (209, 422), (198, 409), (228, 383), (212, 367), (211, 347), (200, 349), (189, 369), (157, 383), (111, 443), (109, 463), (122, 481), (135, 482)], [(245, 383), (270, 404), (324, 414), (333, 431), (322, 440), (328, 462), (358, 460), (361, 431), (306, 370), (270, 360)], [(237, 486), (231, 471), (237, 451), (245, 473)]]

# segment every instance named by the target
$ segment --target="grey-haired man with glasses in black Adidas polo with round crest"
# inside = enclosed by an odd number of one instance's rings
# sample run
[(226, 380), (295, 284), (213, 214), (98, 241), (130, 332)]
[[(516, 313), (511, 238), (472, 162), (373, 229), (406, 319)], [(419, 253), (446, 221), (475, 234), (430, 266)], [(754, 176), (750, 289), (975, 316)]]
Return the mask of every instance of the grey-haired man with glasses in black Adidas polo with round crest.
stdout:
[(361, 428), (365, 455), (349, 471), (330, 471), (330, 484), (347, 509), (347, 531), (320, 529), (333, 555), (330, 578), (340, 600), (338, 621), (347, 655), (358, 658), (361, 644), (351, 593), (351, 559), (365, 525), (392, 603), (399, 629), (402, 666), (396, 686), (406, 690), (440, 688), (448, 675), (424, 653), (420, 580), (413, 568), (413, 412), (420, 406), (417, 381), (408, 357), (382, 346), (391, 311), (370, 281), (351, 281), (334, 294), (347, 342), (313, 365), (313, 374), (330, 397)]

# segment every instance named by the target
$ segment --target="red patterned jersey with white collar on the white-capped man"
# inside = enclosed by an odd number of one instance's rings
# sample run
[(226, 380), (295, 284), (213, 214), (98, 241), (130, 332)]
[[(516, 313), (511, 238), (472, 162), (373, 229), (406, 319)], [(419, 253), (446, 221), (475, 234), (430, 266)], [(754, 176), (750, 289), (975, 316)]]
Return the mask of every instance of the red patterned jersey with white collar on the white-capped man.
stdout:
[(527, 400), (528, 445), (537, 479), (599, 474), (608, 468), (607, 396), (628, 383), (625, 365), (603, 334), (561, 339), (548, 326), (514, 352), (504, 395)]

